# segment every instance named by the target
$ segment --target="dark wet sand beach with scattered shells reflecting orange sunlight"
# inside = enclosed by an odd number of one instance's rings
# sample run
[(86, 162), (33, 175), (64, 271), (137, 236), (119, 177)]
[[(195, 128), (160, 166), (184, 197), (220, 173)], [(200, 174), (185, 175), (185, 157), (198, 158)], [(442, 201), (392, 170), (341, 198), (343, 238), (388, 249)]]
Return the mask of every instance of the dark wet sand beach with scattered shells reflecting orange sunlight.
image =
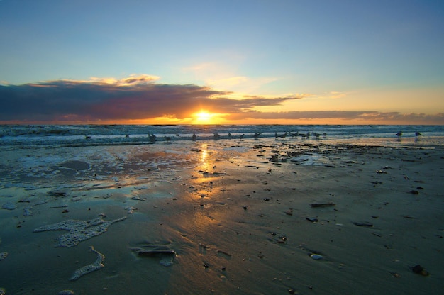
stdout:
[[(0, 176), (6, 294), (444, 289), (442, 147), (270, 139), (27, 148), (2, 151)], [(122, 217), (72, 247), (55, 247), (67, 230), (34, 232)], [(90, 246), (104, 266), (70, 281), (96, 262)]]

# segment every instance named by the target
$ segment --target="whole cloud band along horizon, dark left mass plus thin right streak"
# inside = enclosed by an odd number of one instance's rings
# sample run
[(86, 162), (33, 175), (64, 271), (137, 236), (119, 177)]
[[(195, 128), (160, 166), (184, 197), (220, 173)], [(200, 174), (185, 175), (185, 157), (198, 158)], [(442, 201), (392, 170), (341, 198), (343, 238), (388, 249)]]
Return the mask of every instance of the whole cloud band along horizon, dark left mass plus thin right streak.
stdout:
[(255, 107), (278, 106), (301, 96), (235, 96), (194, 84), (158, 84), (157, 77), (131, 75), (91, 81), (57, 80), (35, 84), (0, 85), (0, 123), (100, 123), (143, 120), (167, 116), (190, 118), (205, 109), (224, 113), (228, 121), (343, 120), (346, 123), (444, 124), (444, 113), (403, 114), (379, 111), (280, 111), (261, 112)]

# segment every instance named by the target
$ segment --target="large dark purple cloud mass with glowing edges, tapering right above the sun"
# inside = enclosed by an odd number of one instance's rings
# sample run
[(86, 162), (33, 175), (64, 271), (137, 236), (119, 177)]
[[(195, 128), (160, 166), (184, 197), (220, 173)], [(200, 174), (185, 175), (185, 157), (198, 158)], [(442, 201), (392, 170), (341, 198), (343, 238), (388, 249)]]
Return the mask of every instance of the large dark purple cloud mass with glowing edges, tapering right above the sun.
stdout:
[(157, 84), (144, 74), (124, 79), (56, 80), (0, 85), (2, 122), (99, 122), (143, 120), (168, 116), (184, 119), (205, 108), (217, 113), (242, 113), (255, 106), (277, 106), (297, 96), (243, 96), (194, 84)]

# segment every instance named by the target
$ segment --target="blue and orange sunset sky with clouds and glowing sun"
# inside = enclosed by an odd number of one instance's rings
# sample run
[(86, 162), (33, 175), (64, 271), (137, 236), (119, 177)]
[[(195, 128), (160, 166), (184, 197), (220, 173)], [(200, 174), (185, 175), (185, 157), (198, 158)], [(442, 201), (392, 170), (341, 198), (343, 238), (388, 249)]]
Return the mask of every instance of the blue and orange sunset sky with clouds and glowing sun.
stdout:
[(444, 125), (444, 1), (0, 0), (0, 123)]

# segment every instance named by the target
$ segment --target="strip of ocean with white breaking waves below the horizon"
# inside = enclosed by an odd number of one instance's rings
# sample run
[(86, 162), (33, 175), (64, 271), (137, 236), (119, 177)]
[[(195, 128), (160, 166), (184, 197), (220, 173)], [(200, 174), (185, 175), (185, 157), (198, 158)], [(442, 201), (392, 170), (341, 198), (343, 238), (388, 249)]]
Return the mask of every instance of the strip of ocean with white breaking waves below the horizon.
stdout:
[[(402, 132), (401, 137), (396, 133)], [(416, 136), (416, 132), (421, 133)], [(2, 125), (0, 145), (142, 145), (191, 140), (318, 140), (357, 145), (443, 145), (444, 126), (399, 125)]]

